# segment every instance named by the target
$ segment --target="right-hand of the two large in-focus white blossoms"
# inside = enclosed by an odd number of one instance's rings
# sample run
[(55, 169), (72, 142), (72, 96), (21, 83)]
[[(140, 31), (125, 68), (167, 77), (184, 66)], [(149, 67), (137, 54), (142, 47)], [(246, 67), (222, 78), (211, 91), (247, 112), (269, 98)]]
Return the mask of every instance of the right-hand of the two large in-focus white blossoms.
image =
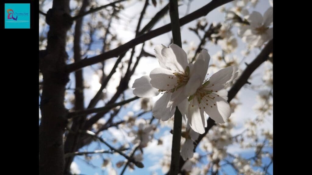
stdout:
[[(194, 64), (195, 66), (195, 64)], [(206, 69), (207, 70), (207, 69)], [(203, 70), (203, 72), (207, 72)], [(214, 73), (197, 91), (188, 98), (188, 122), (191, 128), (203, 134), (207, 127), (204, 112), (218, 123), (225, 123), (231, 116), (231, 107), (227, 102), (227, 91), (223, 88), (238, 75), (237, 67), (229, 66)], [(202, 75), (200, 82), (203, 82)]]

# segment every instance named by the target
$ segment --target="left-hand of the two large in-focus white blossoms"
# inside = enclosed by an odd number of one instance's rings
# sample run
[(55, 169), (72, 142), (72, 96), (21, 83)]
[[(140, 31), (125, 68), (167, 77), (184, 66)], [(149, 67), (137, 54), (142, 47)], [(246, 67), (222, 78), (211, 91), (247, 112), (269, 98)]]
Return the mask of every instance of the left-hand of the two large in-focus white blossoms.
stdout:
[(184, 116), (187, 112), (183, 110), (188, 103), (187, 97), (200, 86), (195, 81), (198, 81), (199, 72), (207, 70), (205, 67), (208, 67), (210, 56), (207, 51), (202, 51), (202, 59), (195, 62), (197, 69), (191, 69), (195, 64), (188, 64), (187, 54), (178, 45), (171, 44), (169, 48), (158, 45), (154, 50), (160, 68), (152, 70), (149, 76), (136, 79), (132, 86), (135, 88), (133, 93), (138, 97), (153, 97), (159, 92), (163, 93), (152, 108), (157, 119), (169, 120), (174, 115), (176, 106)]

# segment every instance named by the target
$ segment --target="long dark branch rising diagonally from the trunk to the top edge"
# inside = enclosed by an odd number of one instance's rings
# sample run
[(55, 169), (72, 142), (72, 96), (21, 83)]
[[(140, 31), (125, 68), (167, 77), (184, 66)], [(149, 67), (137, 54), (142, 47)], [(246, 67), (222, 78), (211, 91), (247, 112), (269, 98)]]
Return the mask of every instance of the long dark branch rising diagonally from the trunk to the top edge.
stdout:
[[(180, 19), (180, 26), (183, 26), (184, 24), (187, 24), (188, 22), (191, 22), (199, 17), (206, 16), (209, 12), (211, 12), (213, 9), (227, 3), (231, 2), (233, 0), (212, 0), (207, 5), (203, 6), (202, 8), (196, 10), (193, 13), (190, 13), (189, 15), (183, 17)], [(108, 52), (105, 52), (103, 54), (91, 57), (89, 59), (81, 60), (78, 63), (73, 63), (67, 65), (67, 72), (72, 72), (79, 70), (83, 67), (99, 63), (101, 61), (104, 61), (106, 59), (110, 59), (112, 57), (117, 57), (119, 54), (122, 54), (132, 48), (135, 45), (138, 45), (140, 43), (143, 43), (144, 41), (147, 41), (149, 39), (152, 39), (158, 35), (164, 34), (171, 30), (171, 24), (167, 24), (165, 26), (159, 27), (153, 31), (149, 31), (146, 34), (140, 35), (139, 37), (130, 40), (129, 42), (113, 49)]]

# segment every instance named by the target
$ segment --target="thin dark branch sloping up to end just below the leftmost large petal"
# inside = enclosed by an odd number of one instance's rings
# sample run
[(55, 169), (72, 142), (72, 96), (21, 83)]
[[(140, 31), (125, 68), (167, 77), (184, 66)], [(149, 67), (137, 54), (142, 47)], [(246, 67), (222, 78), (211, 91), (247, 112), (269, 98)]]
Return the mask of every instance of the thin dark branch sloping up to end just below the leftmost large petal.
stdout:
[(97, 113), (97, 112), (109, 111), (110, 109), (112, 109), (114, 107), (127, 104), (127, 103), (132, 102), (132, 101), (139, 99), (139, 98), (140, 97), (133, 97), (133, 98), (130, 98), (128, 100), (124, 100), (122, 102), (114, 103), (114, 104), (107, 105), (104, 107), (91, 108), (91, 109), (85, 109), (85, 110), (70, 112), (70, 113), (68, 113), (67, 118), (73, 118), (73, 117), (88, 115), (88, 114)]

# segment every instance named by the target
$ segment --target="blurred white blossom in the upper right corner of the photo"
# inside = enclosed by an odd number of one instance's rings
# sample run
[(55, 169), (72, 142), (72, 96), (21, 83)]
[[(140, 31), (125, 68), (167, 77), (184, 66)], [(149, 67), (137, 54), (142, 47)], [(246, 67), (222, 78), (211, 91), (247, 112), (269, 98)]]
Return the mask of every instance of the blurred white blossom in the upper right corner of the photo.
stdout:
[(263, 43), (273, 38), (273, 7), (266, 10), (263, 17), (259, 12), (252, 12), (248, 17), (249, 26), (243, 33), (242, 40), (251, 47), (261, 47)]

